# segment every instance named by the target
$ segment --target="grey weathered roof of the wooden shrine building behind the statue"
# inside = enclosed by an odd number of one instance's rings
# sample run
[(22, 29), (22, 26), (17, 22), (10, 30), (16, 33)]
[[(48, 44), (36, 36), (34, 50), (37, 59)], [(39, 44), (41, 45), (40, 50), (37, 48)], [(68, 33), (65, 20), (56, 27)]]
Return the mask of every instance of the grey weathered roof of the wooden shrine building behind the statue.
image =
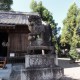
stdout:
[(0, 11), (0, 24), (28, 24), (28, 17), (30, 15), (37, 15), (37, 13), (25, 13), (25, 12), (4, 12)]

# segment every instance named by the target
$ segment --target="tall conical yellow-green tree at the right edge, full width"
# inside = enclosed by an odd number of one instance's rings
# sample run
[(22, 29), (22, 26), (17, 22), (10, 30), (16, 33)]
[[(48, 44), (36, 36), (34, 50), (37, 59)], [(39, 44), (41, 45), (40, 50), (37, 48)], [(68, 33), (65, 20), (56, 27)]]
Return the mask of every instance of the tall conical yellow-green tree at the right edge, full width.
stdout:
[[(61, 34), (61, 43), (63, 46), (69, 44), (71, 47), (70, 54), (72, 55), (72, 49), (77, 47), (80, 37), (77, 34), (77, 29), (80, 26), (80, 10), (74, 3), (68, 10), (67, 17), (63, 21), (63, 29)], [(73, 47), (73, 48), (72, 48)], [(76, 49), (75, 49), (76, 50)], [(76, 52), (76, 51), (75, 51)], [(77, 53), (75, 53), (77, 55)], [(74, 56), (74, 55), (73, 55)]]

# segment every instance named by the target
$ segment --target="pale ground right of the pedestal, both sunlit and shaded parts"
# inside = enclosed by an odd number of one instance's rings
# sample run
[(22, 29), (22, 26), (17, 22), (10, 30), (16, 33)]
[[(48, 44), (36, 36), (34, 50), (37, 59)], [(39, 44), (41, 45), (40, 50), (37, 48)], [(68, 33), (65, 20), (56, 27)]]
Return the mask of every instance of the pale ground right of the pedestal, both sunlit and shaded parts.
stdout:
[(80, 80), (80, 61), (70, 63), (69, 58), (59, 58), (58, 64), (64, 68), (64, 77), (61, 80)]

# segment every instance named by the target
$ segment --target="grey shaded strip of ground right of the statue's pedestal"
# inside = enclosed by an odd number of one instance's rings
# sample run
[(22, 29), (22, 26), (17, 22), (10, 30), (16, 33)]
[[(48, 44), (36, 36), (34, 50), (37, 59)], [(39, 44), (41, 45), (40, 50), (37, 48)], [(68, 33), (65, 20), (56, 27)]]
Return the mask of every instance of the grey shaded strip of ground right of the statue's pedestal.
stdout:
[(59, 66), (61, 66), (63, 68), (80, 67), (80, 62), (70, 63), (69, 58), (59, 58), (58, 64), (59, 64)]

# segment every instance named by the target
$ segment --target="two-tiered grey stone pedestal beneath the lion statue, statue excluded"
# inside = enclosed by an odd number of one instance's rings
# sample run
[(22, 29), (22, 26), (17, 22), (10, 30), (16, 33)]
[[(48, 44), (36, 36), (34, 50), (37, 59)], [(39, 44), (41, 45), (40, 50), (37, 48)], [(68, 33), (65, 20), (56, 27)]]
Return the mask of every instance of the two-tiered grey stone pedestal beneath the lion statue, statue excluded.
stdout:
[(26, 55), (21, 80), (58, 80), (63, 73), (63, 68), (54, 63), (54, 55)]

